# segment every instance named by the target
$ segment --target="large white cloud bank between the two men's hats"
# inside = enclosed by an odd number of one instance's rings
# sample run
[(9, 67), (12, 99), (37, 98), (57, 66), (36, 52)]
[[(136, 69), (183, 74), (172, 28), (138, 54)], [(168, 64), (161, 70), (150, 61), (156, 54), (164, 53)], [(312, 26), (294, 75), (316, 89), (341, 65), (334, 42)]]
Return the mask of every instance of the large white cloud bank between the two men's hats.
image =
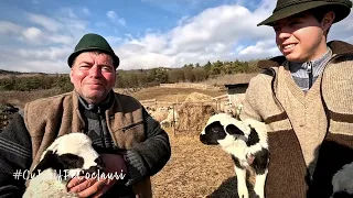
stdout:
[[(148, 32), (139, 38), (129, 35), (125, 45), (116, 47), (121, 68), (157, 67), (161, 58), (165, 66), (180, 67), (189, 63), (271, 56), (278, 52), (272, 30), (256, 26), (270, 14), (268, 3), (271, 2), (264, 1), (253, 12), (239, 4), (220, 6), (180, 19), (179, 25), (164, 34)], [(236, 47), (244, 42), (254, 46)]]

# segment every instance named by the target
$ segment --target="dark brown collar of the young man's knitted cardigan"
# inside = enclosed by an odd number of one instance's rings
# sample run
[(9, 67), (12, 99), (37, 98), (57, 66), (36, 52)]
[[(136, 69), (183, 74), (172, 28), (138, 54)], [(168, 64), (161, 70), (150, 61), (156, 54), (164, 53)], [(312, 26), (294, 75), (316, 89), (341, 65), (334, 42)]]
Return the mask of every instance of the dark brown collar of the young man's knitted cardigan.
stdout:
[[(353, 45), (342, 42), (342, 41), (331, 41), (328, 46), (332, 50), (334, 55), (352, 54)], [(285, 56), (276, 56), (270, 59), (261, 59), (257, 63), (257, 66), (261, 69), (270, 67), (279, 67), (286, 62)]]

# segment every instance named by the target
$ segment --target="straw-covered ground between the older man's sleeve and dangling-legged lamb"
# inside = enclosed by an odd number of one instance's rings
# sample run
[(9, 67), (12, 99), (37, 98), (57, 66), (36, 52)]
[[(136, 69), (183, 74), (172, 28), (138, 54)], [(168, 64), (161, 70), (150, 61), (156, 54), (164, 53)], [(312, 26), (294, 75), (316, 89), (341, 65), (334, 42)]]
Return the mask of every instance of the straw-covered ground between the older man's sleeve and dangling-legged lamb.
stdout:
[[(237, 197), (236, 177), (228, 154), (204, 145), (199, 136), (170, 134), (170, 161), (152, 177), (156, 198)], [(252, 194), (254, 197), (254, 194)]]

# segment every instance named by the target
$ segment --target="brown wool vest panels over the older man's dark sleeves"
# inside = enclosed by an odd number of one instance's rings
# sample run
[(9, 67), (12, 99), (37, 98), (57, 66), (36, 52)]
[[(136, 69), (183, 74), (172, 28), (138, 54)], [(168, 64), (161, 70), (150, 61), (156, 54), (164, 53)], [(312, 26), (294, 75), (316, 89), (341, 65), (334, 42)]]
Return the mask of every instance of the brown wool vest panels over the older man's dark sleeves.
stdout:
[[(129, 150), (146, 140), (142, 106), (132, 97), (115, 94), (114, 105), (106, 110), (105, 117), (117, 147)], [(32, 141), (33, 163), (30, 172), (56, 138), (84, 132), (85, 129), (76, 91), (26, 103), (24, 123)], [(132, 188), (138, 197), (152, 196), (149, 177), (136, 183)]]

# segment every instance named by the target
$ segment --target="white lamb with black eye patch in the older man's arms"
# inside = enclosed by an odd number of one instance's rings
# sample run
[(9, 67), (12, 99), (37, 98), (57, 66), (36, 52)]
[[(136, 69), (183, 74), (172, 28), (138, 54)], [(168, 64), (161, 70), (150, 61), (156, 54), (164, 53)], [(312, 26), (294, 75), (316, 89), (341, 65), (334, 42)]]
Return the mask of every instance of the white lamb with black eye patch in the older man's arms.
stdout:
[[(103, 162), (84, 133), (57, 138), (42, 154), (23, 198), (78, 197), (66, 185), (75, 176), (103, 170)], [(36, 175), (38, 174), (38, 175)]]

